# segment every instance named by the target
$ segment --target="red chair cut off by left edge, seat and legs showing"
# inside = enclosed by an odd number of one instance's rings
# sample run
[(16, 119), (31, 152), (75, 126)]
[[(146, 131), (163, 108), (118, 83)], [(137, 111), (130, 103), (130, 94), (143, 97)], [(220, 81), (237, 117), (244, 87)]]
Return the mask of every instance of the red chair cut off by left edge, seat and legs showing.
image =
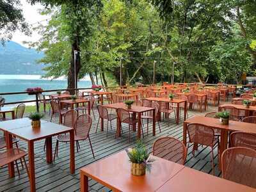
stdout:
[[(17, 160), (23, 159), (25, 166), (26, 166), (26, 170), (29, 176), (29, 171), (28, 171), (28, 166), (26, 164), (26, 160), (25, 160), (25, 156), (27, 155), (27, 152), (25, 152), (24, 150), (21, 150), (19, 148), (11, 148), (11, 149), (7, 149), (4, 152), (0, 153), (0, 167), (15, 162), (16, 168), (17, 168), (17, 172), (20, 175), (20, 171), (19, 171), (19, 167), (18, 167), (18, 163)], [(23, 165), (22, 165), (23, 166)], [(30, 178), (30, 177), (29, 177)]]

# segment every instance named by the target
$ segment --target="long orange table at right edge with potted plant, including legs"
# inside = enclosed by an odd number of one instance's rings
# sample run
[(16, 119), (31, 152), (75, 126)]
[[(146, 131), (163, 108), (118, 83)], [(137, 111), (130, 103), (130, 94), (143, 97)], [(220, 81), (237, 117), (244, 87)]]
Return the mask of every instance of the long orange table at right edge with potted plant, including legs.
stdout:
[[(243, 132), (251, 132), (256, 134), (256, 124), (244, 123), (244, 122), (236, 122), (229, 121), (228, 125), (223, 125), (218, 118), (211, 118), (205, 116), (195, 116), (193, 118), (189, 118), (184, 122), (183, 125), (183, 143), (186, 145), (187, 143), (187, 125), (188, 124), (204, 124), (208, 127), (212, 127), (214, 129), (220, 129), (220, 154), (221, 157), (223, 151), (227, 148), (228, 144), (228, 131), (243, 131)], [(221, 161), (219, 159), (219, 165), (221, 167)]]

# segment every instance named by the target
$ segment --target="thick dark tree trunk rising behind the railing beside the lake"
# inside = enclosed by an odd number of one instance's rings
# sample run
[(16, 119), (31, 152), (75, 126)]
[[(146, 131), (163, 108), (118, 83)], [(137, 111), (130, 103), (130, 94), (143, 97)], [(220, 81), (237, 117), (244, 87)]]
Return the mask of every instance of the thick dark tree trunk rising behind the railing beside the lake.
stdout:
[[(71, 50), (71, 58), (70, 58), (70, 67), (68, 71), (68, 88), (75, 88), (77, 82), (77, 76), (79, 74), (79, 70), (81, 68), (81, 60), (79, 56), (79, 52), (76, 56), (76, 79), (75, 79), (75, 70), (74, 70), (74, 51), (79, 51), (79, 40), (78, 36), (74, 38), (74, 42), (72, 43), (72, 50)], [(74, 90), (70, 91), (71, 94), (74, 94)]]

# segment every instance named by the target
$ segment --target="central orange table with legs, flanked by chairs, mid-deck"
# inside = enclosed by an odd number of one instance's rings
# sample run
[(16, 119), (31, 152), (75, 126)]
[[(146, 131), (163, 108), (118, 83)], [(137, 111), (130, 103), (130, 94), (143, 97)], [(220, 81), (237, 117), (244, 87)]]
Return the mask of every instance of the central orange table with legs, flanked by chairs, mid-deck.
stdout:
[[(105, 108), (111, 108), (111, 109), (118, 109), (123, 108), (126, 109), (129, 112), (132, 112), (132, 118), (136, 118), (136, 113), (138, 113), (138, 134), (137, 138), (140, 139), (141, 136), (141, 113), (147, 112), (147, 111), (153, 111), (153, 136), (156, 135), (156, 109), (155, 108), (147, 108), (142, 106), (135, 106), (132, 105), (131, 109), (127, 109), (127, 106), (123, 102), (118, 102), (114, 104), (106, 104), (104, 105)], [(121, 136), (121, 130), (120, 130), (120, 122), (119, 120), (116, 121), (116, 127), (117, 127), (117, 136)], [(103, 131), (103, 119), (101, 119), (101, 131)]]

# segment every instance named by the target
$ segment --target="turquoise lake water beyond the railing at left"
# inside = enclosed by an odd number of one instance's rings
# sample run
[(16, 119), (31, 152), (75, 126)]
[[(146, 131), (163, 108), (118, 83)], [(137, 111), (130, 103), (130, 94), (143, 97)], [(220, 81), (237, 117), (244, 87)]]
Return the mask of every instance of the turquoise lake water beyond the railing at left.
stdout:
[[(77, 83), (78, 88), (92, 86), (88, 77)], [(54, 90), (67, 88), (67, 80), (60, 78), (58, 80), (41, 79), (40, 76), (29, 75), (0, 75), (0, 93), (24, 92), (27, 88), (40, 87), (43, 90)], [(19, 94), (4, 95), (6, 102), (15, 102), (17, 100), (33, 100), (35, 95)]]

